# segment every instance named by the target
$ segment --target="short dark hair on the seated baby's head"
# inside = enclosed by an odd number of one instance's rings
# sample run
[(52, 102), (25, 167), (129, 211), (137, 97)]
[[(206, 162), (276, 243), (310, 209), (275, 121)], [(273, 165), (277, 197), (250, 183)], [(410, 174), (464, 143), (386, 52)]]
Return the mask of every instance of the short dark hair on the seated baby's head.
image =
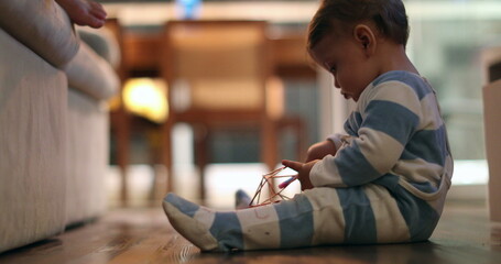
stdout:
[(308, 51), (326, 34), (351, 31), (363, 21), (372, 22), (384, 37), (407, 44), (409, 22), (402, 0), (323, 0), (308, 26)]

